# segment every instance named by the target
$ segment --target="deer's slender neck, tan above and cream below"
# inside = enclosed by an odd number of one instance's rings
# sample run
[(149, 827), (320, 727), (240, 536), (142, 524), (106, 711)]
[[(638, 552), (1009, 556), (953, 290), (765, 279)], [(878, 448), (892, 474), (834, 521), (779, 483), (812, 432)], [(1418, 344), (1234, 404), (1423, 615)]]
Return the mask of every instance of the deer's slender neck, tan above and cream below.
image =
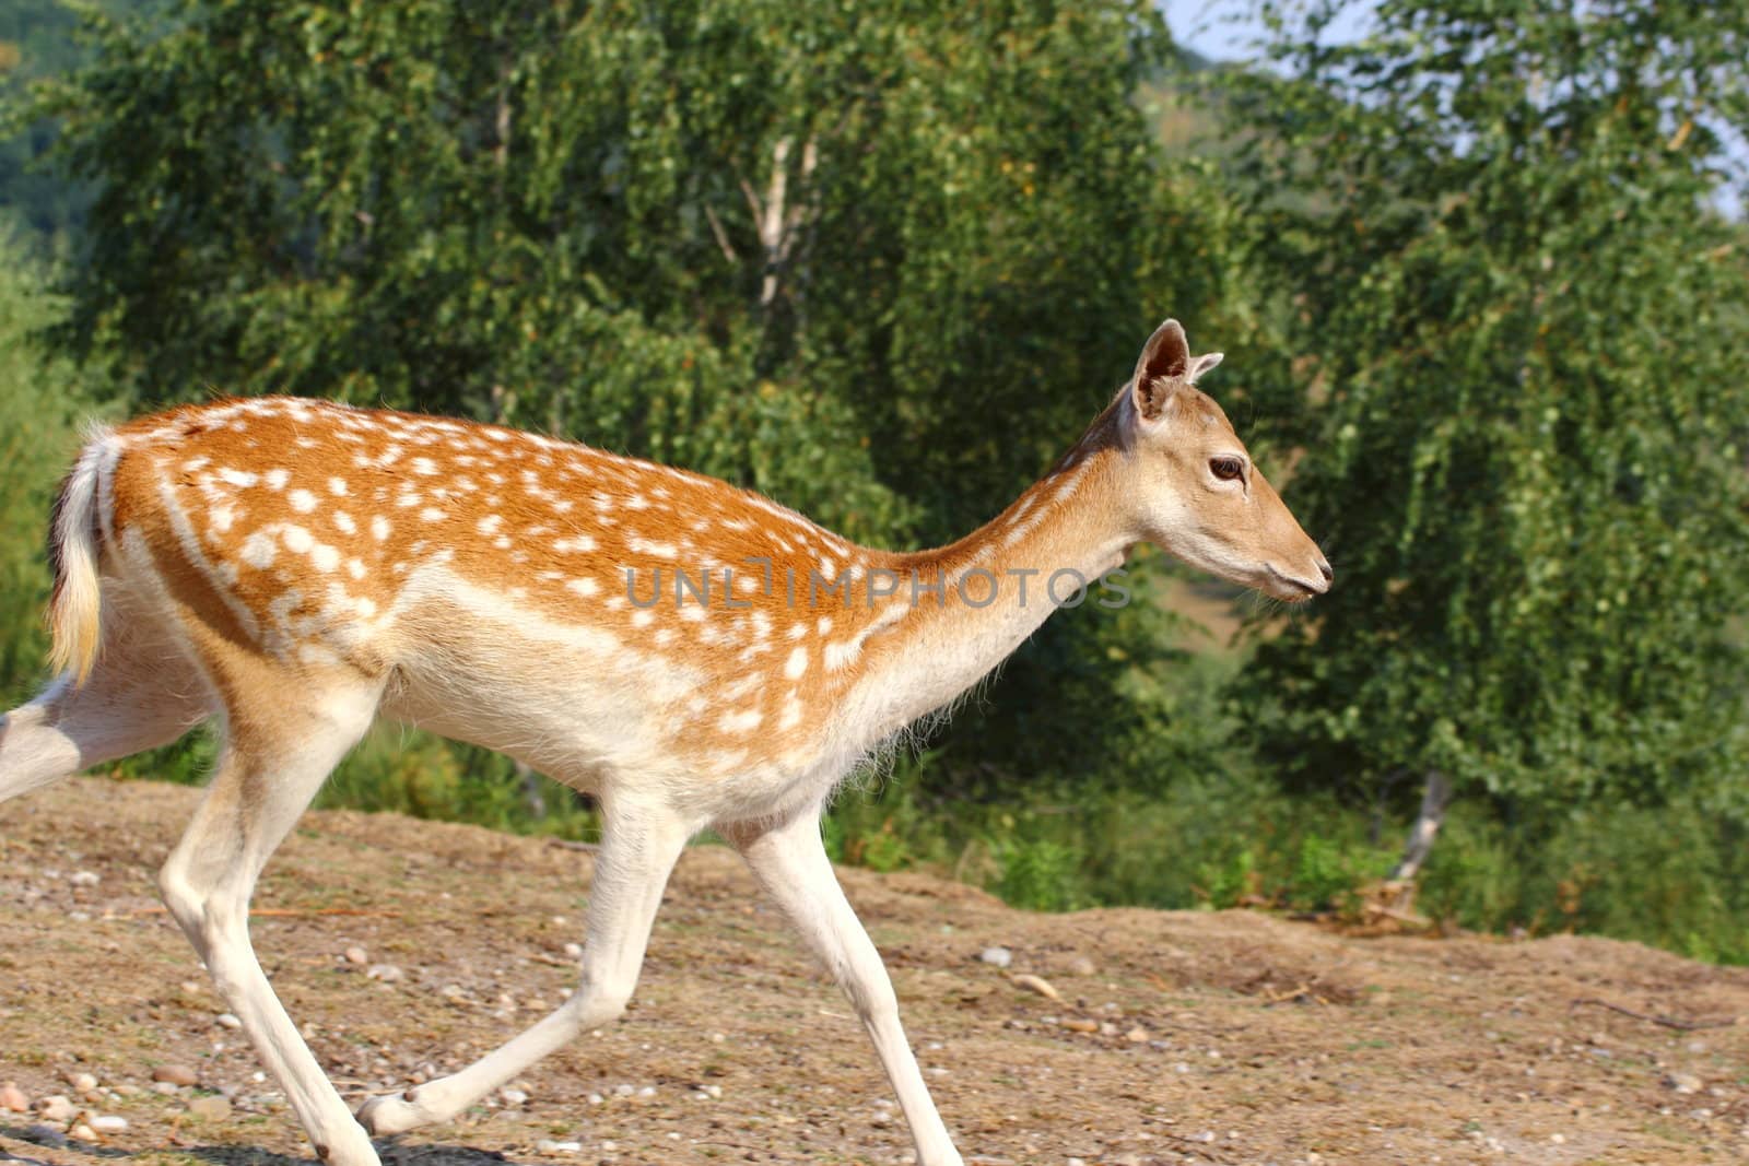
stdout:
[(895, 558), (901, 593), (874, 619), (894, 635), (852, 694), (859, 725), (883, 738), (978, 684), (1058, 607), (1121, 600), (1100, 582), (1135, 542), (1114, 496), (1118, 456), (1077, 446), (965, 538)]

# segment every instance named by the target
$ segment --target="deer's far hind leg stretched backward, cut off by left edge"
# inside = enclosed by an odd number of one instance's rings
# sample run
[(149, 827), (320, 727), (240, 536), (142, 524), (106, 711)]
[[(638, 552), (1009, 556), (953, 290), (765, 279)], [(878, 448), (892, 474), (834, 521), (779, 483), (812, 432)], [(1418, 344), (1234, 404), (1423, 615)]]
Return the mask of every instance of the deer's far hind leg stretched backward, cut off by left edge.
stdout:
[(103, 649), (86, 684), (61, 677), (0, 717), (0, 802), (168, 745), (212, 715), (212, 692), (163, 615), (119, 589), (103, 598)]

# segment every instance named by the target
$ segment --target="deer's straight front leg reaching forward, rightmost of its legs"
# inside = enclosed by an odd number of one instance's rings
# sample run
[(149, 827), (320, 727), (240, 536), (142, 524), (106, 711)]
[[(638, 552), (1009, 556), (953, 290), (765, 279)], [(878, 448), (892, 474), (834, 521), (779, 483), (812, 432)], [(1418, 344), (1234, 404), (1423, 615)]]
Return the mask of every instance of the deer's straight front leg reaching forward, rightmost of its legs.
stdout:
[(754, 876), (784, 907), (855, 1005), (874, 1040), (887, 1079), (899, 1094), (899, 1108), (916, 1142), (918, 1166), (962, 1166), (899, 1024), (899, 1000), (887, 965), (845, 899), (833, 862), (826, 857), (819, 808), (777, 825), (736, 823), (719, 825), (719, 830), (742, 851)]

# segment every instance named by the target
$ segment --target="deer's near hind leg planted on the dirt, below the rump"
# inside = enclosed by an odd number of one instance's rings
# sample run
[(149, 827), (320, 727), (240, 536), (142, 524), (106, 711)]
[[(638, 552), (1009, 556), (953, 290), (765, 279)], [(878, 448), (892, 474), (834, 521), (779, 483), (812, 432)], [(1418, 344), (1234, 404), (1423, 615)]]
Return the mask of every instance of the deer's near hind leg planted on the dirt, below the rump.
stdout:
[[(317, 1156), (376, 1166), (376, 1150), (273, 995), (248, 939), (248, 900), (268, 857), (371, 724), (381, 684), (255, 668), (226, 694), (219, 771), (159, 874), (164, 904), (285, 1089)], [(247, 696), (243, 696), (247, 692)]]

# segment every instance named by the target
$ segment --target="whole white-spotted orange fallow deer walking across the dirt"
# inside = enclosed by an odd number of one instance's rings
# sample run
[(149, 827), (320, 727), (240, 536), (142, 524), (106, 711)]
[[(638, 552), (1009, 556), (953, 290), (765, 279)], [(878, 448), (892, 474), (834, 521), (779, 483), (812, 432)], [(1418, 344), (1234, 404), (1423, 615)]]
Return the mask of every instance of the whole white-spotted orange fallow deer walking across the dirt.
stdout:
[[(96, 430), (51, 523), (59, 678), (0, 724), (0, 801), (219, 722), (217, 773), (159, 886), (339, 1166), (374, 1166), (371, 1135), (448, 1121), (617, 1017), (670, 867), (715, 827), (843, 984), (918, 1163), (960, 1163), (820, 813), (861, 759), (1133, 544), (1287, 601), (1329, 587), (1195, 388), (1219, 358), (1165, 322), (1037, 484), (915, 554), (700, 474), (493, 425), (259, 397)], [(593, 795), (603, 825), (575, 993), (355, 1115), (268, 986), (248, 900), (374, 717), (518, 757)]]

